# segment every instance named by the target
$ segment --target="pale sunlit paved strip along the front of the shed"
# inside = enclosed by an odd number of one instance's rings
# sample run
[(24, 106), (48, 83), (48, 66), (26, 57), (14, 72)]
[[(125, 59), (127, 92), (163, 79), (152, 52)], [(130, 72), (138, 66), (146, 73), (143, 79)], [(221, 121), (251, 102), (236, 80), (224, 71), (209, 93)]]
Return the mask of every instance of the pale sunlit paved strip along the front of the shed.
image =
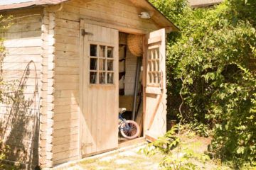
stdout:
[(161, 161), (161, 155), (154, 157), (146, 157), (140, 153), (140, 149), (145, 145), (128, 149), (124, 152), (116, 152), (114, 154), (106, 155), (105, 157), (86, 159), (85, 161), (70, 164), (66, 167), (59, 168), (58, 170), (142, 170), (150, 169), (157, 170), (159, 168), (159, 162)]

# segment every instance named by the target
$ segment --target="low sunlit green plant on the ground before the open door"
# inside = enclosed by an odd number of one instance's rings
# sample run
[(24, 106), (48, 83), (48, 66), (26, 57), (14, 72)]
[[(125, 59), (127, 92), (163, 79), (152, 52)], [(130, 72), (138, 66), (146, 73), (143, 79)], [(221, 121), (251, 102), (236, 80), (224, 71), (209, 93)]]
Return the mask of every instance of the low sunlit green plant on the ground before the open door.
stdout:
[(142, 149), (142, 152), (147, 156), (152, 156), (159, 152), (164, 154), (160, 166), (166, 170), (199, 169), (191, 160), (196, 159), (201, 163), (205, 163), (210, 158), (206, 154), (196, 153), (190, 147), (183, 145), (176, 134), (177, 131), (178, 126), (174, 126), (164, 137), (159, 137), (158, 140)]

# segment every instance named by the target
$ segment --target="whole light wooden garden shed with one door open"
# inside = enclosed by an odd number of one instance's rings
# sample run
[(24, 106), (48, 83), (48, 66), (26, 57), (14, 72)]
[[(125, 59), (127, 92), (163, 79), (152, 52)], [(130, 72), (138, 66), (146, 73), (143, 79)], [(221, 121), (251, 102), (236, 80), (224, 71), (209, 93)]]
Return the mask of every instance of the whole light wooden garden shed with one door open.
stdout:
[(137, 141), (164, 135), (166, 33), (178, 29), (149, 1), (12, 1), (0, 4), (13, 16), (1, 33), (14, 98), (0, 105), (10, 161), (51, 168), (129, 144), (119, 108), (140, 125)]

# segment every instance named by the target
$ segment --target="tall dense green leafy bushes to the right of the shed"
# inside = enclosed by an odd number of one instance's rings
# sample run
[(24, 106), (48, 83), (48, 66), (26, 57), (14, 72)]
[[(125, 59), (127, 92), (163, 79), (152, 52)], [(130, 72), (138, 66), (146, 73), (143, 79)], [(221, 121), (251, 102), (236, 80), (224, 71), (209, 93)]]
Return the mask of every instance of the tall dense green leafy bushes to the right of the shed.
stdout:
[(202, 135), (213, 128), (212, 149), (236, 168), (255, 164), (256, 1), (195, 10), (186, 1), (153, 3), (181, 29), (168, 47), (169, 115), (178, 115), (183, 85), (183, 118)]

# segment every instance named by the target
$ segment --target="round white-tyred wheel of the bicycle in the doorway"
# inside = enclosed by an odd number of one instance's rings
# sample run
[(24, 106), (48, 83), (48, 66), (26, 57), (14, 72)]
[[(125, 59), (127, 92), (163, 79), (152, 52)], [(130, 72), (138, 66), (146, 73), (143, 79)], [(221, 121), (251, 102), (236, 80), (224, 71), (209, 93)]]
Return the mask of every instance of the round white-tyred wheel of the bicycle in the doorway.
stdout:
[(122, 123), (120, 132), (123, 137), (132, 140), (139, 135), (139, 125), (133, 120), (126, 120)]

